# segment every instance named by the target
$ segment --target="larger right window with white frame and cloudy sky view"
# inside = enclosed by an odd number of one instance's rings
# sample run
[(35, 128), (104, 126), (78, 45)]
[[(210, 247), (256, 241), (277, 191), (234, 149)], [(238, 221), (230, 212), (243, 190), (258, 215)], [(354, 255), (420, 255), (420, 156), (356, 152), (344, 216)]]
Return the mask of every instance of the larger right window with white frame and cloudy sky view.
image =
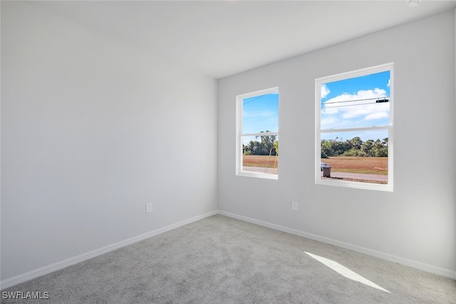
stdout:
[(316, 184), (393, 191), (393, 63), (316, 79)]

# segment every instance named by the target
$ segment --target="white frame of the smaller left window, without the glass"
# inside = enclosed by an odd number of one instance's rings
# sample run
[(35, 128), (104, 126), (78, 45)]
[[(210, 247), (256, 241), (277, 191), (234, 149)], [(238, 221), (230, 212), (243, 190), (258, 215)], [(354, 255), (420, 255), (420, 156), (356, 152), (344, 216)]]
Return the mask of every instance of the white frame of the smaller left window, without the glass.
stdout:
[[(258, 177), (262, 179), (279, 179), (279, 173), (269, 174), (262, 172), (248, 172), (242, 169), (242, 137), (248, 136), (267, 136), (267, 135), (279, 135), (279, 129), (277, 132), (260, 132), (260, 133), (242, 133), (242, 115), (243, 115), (243, 103), (242, 101), (246, 98), (252, 98), (259, 95), (266, 95), (276, 93), (279, 94), (279, 87), (269, 88), (266, 90), (258, 90), (256, 92), (237, 95), (236, 96), (236, 175), (242, 177)], [(279, 114), (277, 114), (279, 115)], [(277, 117), (279, 122), (279, 117)], [(277, 126), (279, 128), (279, 126)]]

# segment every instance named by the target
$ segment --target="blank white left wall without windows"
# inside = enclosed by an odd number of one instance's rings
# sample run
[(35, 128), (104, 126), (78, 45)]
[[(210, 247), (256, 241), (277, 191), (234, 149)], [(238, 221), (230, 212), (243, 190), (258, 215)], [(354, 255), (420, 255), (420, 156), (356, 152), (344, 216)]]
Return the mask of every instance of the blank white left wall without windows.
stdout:
[(1, 1), (1, 280), (217, 210), (216, 98), (212, 78)]

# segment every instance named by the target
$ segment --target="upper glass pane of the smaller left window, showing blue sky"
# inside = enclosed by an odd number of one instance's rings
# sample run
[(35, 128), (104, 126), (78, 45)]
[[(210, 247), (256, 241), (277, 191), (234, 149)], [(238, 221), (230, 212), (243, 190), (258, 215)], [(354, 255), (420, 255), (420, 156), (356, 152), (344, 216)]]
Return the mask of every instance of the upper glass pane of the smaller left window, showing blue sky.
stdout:
[(279, 93), (242, 100), (242, 133), (277, 132), (279, 130)]

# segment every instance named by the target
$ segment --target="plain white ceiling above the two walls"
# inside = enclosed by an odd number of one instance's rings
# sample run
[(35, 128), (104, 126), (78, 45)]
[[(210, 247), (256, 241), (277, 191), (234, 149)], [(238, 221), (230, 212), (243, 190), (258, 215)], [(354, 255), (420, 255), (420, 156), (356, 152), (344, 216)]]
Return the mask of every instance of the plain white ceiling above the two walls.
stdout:
[(456, 1), (33, 1), (213, 78), (314, 51)]

